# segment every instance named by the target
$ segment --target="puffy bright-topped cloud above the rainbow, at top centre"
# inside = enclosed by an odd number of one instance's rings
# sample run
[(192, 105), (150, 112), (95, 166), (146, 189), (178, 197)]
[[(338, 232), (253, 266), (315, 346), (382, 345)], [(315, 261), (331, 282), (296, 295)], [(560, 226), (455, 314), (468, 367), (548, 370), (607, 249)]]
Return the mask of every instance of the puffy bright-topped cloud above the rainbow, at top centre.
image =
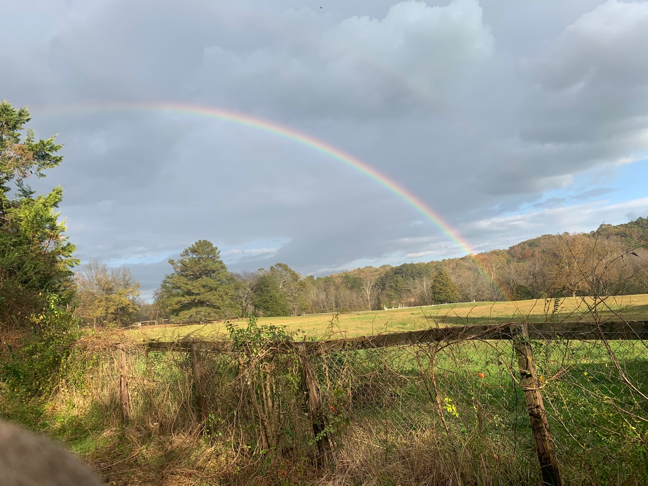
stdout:
[(425, 98), (456, 98), (457, 85), (494, 43), (473, 0), (443, 7), (404, 1), (382, 19), (349, 17), (328, 28), (307, 8), (281, 21), (281, 49), (206, 49), (196, 81), (203, 97), (233, 95), (257, 109), (308, 118), (393, 117)]

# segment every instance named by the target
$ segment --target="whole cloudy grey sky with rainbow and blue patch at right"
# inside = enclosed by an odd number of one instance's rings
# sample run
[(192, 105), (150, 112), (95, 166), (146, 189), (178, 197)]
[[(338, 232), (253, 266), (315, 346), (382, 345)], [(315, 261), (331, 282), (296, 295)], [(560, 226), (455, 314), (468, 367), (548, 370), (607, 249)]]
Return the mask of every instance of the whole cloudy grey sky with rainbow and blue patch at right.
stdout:
[(230, 270), (441, 260), (648, 216), (648, 2), (0, 0), (38, 191), (150, 299)]

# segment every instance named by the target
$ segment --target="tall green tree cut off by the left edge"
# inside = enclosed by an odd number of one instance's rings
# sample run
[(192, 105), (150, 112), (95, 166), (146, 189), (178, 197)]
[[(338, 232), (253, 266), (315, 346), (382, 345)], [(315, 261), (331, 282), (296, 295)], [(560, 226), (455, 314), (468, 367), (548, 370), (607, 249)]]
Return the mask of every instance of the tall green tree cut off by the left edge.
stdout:
[[(55, 137), (36, 139), (27, 108), (0, 102), (0, 327), (25, 327), (31, 316), (64, 307), (74, 295), (75, 246), (65, 237), (56, 208), (60, 186), (36, 195), (30, 176), (58, 166)], [(43, 323), (41, 320), (40, 323)]]

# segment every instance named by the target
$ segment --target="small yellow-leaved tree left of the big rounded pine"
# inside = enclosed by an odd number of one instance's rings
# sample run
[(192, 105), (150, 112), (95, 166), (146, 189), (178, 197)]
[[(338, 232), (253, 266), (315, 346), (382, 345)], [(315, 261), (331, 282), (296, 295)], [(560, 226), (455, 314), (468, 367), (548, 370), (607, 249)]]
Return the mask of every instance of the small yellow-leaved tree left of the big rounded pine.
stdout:
[(92, 325), (123, 325), (137, 317), (139, 282), (126, 267), (93, 260), (75, 275), (77, 315)]

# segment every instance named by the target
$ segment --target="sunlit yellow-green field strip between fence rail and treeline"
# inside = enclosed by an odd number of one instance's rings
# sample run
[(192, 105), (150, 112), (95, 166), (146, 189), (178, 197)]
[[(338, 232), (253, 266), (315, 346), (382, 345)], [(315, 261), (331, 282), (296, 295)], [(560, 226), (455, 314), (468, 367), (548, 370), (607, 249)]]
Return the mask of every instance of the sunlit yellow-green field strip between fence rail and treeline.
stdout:
[[(550, 299), (515, 302), (476, 302), (464, 304), (432, 305), (390, 310), (373, 310), (337, 314), (335, 325), (331, 325), (334, 314), (310, 314), (307, 316), (259, 318), (260, 325), (286, 326), (292, 331), (302, 330), (310, 339), (370, 336), (372, 334), (399, 332), (402, 330), (427, 329), (437, 324), (474, 324), (481, 321), (592, 321), (588, 304), (592, 300), (584, 297), (568, 297), (559, 302), (558, 312), (551, 316), (554, 301)], [(607, 297), (599, 305), (603, 320), (645, 320), (648, 319), (648, 294), (619, 295)], [(244, 325), (246, 320), (233, 321)], [(215, 336), (225, 333), (224, 322), (181, 327), (143, 327), (128, 331), (142, 340), (174, 340), (189, 334), (194, 336)], [(331, 334), (333, 333), (333, 334)]]

